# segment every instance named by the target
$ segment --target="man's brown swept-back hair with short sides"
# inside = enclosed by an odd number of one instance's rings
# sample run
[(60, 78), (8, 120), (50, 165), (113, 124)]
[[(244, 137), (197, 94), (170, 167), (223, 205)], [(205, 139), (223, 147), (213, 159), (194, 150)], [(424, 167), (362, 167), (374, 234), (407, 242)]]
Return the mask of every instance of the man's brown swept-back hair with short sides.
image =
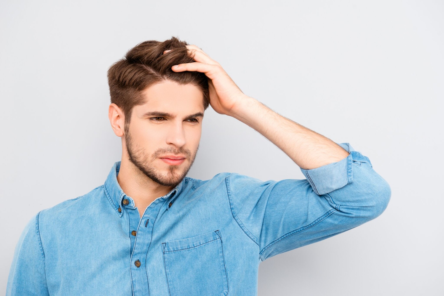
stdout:
[[(197, 86), (202, 90), (204, 110), (208, 108), (210, 94), (205, 73), (171, 70), (173, 65), (195, 62), (186, 45), (189, 44), (174, 36), (163, 42), (144, 41), (131, 48), (122, 59), (111, 65), (107, 73), (111, 103), (122, 109), (125, 125), (130, 123), (133, 107), (145, 103), (141, 92), (164, 81)], [(171, 51), (163, 54), (166, 50)]]

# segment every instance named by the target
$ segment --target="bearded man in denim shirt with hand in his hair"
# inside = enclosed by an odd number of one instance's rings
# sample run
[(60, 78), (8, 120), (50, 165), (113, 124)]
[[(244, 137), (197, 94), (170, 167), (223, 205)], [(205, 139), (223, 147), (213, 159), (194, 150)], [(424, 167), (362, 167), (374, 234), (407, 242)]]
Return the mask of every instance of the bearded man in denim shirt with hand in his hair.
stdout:
[[(368, 222), (389, 203), (367, 156), (245, 95), (199, 47), (140, 43), (108, 82), (122, 160), (103, 185), (29, 221), (7, 295), (257, 295), (261, 261)], [(306, 179), (187, 177), (209, 105), (276, 144)]]

